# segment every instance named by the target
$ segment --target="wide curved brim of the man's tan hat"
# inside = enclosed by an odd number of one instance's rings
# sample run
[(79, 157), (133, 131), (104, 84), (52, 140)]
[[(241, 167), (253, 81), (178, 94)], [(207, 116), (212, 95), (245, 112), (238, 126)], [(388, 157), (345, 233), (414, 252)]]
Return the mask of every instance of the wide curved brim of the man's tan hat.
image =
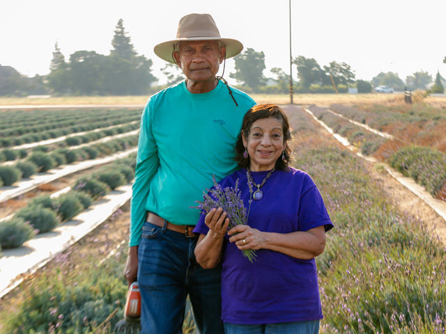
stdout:
[(222, 42), (226, 46), (226, 59), (237, 56), (243, 50), (243, 44), (238, 40), (233, 40), (231, 38), (190, 37), (190, 38), (177, 38), (175, 40), (168, 40), (167, 42), (162, 42), (158, 45), (155, 45), (153, 51), (155, 51), (155, 54), (164, 61), (176, 64), (175, 59), (172, 56), (172, 54), (174, 53), (174, 45), (178, 42), (184, 42), (187, 40), (220, 40), (220, 42)]

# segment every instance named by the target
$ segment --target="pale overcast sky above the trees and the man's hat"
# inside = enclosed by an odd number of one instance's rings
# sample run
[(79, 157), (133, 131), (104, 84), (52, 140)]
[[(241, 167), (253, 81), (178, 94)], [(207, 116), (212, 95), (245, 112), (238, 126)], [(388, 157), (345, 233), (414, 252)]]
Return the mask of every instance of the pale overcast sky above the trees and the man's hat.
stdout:
[[(165, 63), (153, 46), (175, 38), (188, 13), (210, 13), (222, 37), (263, 51), (267, 77), (272, 67), (289, 74), (289, 0), (0, 0), (0, 65), (48, 74), (56, 42), (66, 61), (80, 50), (108, 55), (123, 19), (135, 51), (162, 81)], [(420, 70), (446, 77), (445, 13), (445, 0), (291, 0), (292, 56), (321, 67), (345, 62), (363, 80), (395, 72), (404, 81)], [(233, 61), (226, 79), (229, 72)]]

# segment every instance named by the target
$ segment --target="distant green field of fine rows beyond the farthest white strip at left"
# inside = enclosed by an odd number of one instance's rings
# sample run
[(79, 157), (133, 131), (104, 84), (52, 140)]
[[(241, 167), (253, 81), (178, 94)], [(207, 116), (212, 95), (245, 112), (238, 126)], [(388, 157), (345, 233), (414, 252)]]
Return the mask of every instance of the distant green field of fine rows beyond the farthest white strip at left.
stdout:
[(138, 109), (76, 109), (4, 111), (1, 113), (0, 148), (67, 136), (76, 132), (139, 121)]

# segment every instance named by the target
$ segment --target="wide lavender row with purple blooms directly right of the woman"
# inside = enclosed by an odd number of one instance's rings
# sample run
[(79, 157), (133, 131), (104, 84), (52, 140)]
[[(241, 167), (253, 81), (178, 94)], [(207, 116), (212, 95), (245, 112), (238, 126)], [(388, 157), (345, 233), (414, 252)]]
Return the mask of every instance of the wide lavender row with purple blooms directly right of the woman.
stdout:
[(437, 234), (392, 205), (359, 157), (314, 140), (305, 119), (295, 166), (312, 175), (335, 225), (316, 259), (321, 333), (445, 333), (446, 253)]

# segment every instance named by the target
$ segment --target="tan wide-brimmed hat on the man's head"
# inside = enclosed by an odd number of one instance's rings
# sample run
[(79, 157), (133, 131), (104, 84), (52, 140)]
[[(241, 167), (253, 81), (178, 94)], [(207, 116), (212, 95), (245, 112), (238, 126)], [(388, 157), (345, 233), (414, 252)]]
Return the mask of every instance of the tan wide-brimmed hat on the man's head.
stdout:
[(186, 40), (219, 40), (226, 46), (226, 58), (237, 56), (243, 50), (243, 44), (232, 38), (222, 38), (214, 19), (209, 14), (189, 14), (180, 19), (174, 40), (155, 45), (153, 51), (164, 61), (176, 64), (172, 54), (174, 45)]

